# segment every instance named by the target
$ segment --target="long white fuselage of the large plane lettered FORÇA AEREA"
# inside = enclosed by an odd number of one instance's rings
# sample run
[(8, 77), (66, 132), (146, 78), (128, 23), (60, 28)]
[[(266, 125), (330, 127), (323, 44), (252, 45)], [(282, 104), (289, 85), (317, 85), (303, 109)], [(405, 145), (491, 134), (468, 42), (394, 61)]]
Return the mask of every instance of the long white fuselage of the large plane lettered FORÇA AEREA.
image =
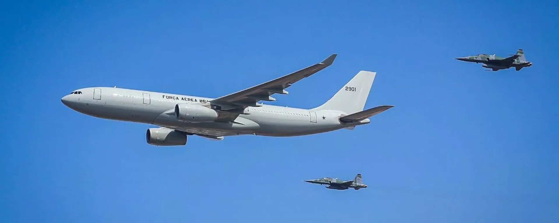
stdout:
[(69, 108), (93, 117), (159, 125), (183, 132), (203, 135), (268, 135), (295, 136), (329, 132), (355, 125), (340, 123), (346, 115), (334, 110), (311, 110), (285, 106), (262, 105), (248, 107), (234, 122), (189, 123), (177, 119), (177, 104), (203, 104), (212, 98), (122, 88), (83, 88), (61, 100)]

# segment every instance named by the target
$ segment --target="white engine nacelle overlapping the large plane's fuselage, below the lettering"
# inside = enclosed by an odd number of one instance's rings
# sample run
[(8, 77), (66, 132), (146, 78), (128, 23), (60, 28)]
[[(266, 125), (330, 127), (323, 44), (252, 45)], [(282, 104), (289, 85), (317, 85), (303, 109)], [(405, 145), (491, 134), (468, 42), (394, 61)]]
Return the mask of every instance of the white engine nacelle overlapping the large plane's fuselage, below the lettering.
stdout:
[(217, 119), (217, 111), (197, 104), (175, 105), (175, 116), (182, 122), (214, 122)]

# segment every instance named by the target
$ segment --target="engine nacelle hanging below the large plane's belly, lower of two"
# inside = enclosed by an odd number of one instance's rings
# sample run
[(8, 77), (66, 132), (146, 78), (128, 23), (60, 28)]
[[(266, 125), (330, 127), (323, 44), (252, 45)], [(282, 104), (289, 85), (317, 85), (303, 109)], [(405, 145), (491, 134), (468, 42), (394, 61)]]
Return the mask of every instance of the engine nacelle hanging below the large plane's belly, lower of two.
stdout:
[(145, 139), (155, 146), (186, 145), (186, 134), (168, 128), (149, 128), (145, 133)]

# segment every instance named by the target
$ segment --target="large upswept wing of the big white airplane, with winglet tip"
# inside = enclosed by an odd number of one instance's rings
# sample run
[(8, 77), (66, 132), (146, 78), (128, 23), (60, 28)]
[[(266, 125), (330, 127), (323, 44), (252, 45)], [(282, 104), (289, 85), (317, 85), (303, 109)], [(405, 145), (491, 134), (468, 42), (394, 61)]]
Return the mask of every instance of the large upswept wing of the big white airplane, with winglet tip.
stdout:
[(234, 108), (242, 107), (243, 109), (248, 106), (262, 106), (257, 104), (257, 102), (260, 100), (275, 101), (276, 99), (272, 98), (270, 95), (274, 93), (287, 94), (287, 91), (285, 90), (286, 88), (291, 86), (293, 83), (296, 83), (297, 81), (330, 66), (334, 62), (336, 56), (337, 54), (332, 54), (318, 64), (292, 72), (291, 74), (279, 77), (266, 83), (253, 86), (252, 88), (222, 96), (221, 98), (211, 100), (210, 103), (229, 105)]

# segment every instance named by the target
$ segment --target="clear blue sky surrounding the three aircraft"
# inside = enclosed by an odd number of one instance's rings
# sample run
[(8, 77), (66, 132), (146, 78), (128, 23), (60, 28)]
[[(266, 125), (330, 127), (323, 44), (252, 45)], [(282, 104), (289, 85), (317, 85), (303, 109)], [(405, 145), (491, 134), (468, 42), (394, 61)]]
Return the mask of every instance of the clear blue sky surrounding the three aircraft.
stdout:
[[(235, 2), (235, 3), (233, 3)], [(557, 1), (3, 1), (2, 222), (559, 222)], [(487, 72), (454, 57), (525, 51)], [(145, 142), (60, 103), (89, 86), (219, 97), (339, 54), (273, 104), (359, 70), (355, 130)], [(365, 190), (302, 182), (352, 179)]]

